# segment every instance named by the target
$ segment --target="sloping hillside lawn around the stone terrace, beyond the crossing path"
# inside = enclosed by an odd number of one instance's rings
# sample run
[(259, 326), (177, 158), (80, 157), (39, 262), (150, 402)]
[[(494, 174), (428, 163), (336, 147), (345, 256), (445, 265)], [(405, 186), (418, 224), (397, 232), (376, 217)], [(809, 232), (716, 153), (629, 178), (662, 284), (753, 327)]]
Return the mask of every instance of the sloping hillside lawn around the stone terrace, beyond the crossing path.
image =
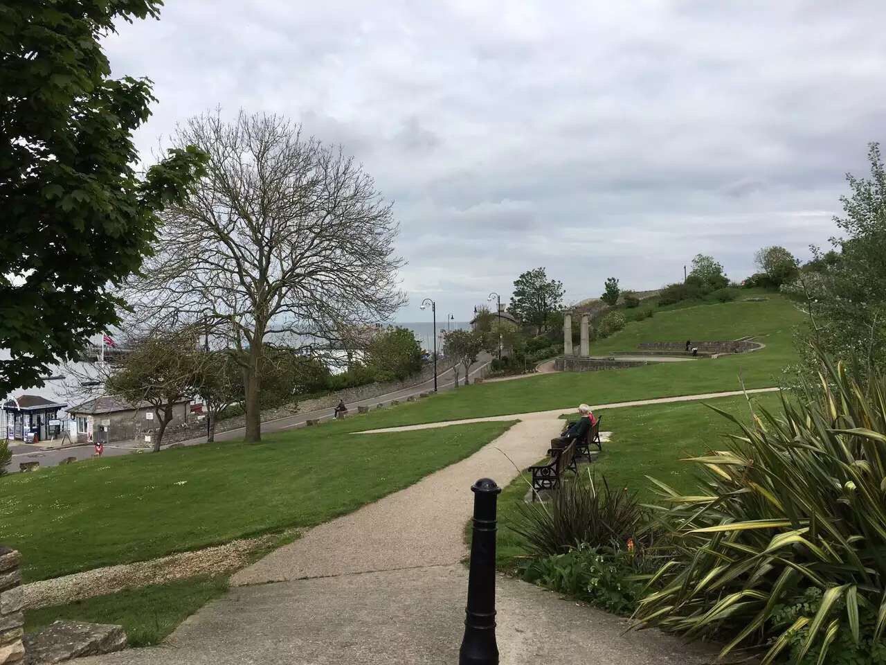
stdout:
[(626, 325), (592, 351), (631, 350), (640, 341), (731, 340), (756, 335), (766, 348), (752, 353), (685, 363), (649, 364), (606, 372), (563, 372), (460, 387), (397, 409), (373, 411), (366, 428), (414, 425), (448, 419), (546, 411), (579, 403), (603, 404), (674, 395), (779, 385), (781, 370), (797, 360), (793, 329), (803, 315), (787, 299), (703, 304), (657, 312)]

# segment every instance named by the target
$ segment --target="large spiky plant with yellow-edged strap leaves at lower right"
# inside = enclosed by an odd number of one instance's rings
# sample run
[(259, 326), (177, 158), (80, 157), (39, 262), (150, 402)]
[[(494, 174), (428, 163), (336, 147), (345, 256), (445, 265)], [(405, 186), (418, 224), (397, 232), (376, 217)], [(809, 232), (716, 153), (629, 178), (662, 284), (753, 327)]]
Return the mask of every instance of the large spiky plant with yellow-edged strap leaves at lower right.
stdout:
[[(690, 460), (707, 481), (697, 496), (653, 481), (665, 504), (657, 519), (679, 553), (641, 600), (641, 625), (727, 641), (721, 656), (760, 648), (764, 665), (786, 646), (791, 660), (814, 655), (820, 663), (838, 636), (879, 642), (886, 376), (871, 370), (862, 387), (843, 366), (820, 360), (820, 386), (782, 397), (781, 413), (760, 410), (746, 425), (720, 411), (743, 435), (728, 450)], [(813, 588), (820, 601), (789, 625), (779, 622)]]

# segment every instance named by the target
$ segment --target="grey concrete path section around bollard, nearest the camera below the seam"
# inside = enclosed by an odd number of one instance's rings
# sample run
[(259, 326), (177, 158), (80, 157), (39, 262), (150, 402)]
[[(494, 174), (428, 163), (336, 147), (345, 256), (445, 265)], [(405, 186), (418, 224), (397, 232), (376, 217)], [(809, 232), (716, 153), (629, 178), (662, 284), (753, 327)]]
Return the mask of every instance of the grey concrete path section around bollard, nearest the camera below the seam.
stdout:
[[(685, 645), (532, 584), (498, 576), (502, 665), (702, 665)], [(240, 587), (192, 616), (165, 645), (78, 665), (454, 665), (465, 567), (421, 567)]]

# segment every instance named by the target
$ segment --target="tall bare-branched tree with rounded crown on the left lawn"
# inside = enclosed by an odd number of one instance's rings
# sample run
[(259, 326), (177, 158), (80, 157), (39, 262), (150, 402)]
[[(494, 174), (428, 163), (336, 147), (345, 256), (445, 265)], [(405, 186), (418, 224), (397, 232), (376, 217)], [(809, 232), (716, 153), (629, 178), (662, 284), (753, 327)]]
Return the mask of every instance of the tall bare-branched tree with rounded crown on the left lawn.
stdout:
[(208, 155), (206, 176), (163, 215), (156, 253), (128, 300), (152, 317), (206, 320), (244, 374), (246, 434), (260, 440), (260, 360), (285, 337), (310, 355), (405, 302), (392, 207), (361, 165), (276, 115), (191, 119), (175, 145)]

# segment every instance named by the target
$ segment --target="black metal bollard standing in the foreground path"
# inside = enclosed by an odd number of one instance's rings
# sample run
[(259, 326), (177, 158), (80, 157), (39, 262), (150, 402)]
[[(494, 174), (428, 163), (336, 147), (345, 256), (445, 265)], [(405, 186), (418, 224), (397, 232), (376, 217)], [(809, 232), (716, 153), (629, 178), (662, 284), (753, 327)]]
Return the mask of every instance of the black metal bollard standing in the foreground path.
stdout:
[(474, 535), (470, 543), (468, 606), (458, 665), (498, 665), (495, 644), (495, 504), (501, 488), (481, 478), (474, 493)]

